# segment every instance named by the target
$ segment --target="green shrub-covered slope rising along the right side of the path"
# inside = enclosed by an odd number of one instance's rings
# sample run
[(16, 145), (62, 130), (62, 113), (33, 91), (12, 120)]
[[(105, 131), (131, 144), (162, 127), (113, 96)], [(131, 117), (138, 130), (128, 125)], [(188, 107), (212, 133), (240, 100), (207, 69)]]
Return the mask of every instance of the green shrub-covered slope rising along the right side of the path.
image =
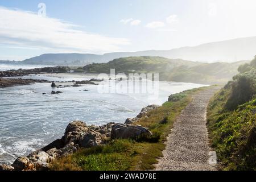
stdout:
[[(210, 101), (212, 147), (224, 170), (256, 170), (256, 57)], [(248, 67), (250, 70), (245, 71)]]

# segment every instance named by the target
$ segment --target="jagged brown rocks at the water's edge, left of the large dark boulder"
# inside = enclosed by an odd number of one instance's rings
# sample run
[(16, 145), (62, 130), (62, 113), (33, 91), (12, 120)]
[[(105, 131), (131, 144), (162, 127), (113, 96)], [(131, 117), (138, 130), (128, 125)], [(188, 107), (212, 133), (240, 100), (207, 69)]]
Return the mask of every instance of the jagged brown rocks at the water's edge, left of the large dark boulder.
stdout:
[(110, 137), (114, 123), (103, 126), (88, 126), (84, 122), (74, 121), (67, 126), (64, 136), (48, 146), (34, 151), (28, 156), (20, 156), (11, 166), (0, 166), (0, 169), (48, 170), (52, 160), (76, 152), (79, 148), (90, 148), (104, 144)]

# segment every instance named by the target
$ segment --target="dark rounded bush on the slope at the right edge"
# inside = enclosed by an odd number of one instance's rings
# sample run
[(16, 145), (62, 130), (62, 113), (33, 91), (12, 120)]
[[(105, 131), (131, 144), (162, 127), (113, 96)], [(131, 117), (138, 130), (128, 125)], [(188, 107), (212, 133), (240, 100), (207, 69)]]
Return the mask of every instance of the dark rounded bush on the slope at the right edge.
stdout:
[(226, 102), (226, 109), (237, 109), (238, 105), (251, 100), (255, 94), (255, 85), (253, 79), (244, 75), (237, 77), (232, 84), (232, 93)]

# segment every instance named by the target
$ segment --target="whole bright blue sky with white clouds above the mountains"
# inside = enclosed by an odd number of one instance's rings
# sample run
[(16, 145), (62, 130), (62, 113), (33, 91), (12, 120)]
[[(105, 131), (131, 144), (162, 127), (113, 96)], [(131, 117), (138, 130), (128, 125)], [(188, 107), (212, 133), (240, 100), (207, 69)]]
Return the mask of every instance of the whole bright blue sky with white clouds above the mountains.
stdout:
[(1, 0), (0, 60), (256, 36), (255, 0)]

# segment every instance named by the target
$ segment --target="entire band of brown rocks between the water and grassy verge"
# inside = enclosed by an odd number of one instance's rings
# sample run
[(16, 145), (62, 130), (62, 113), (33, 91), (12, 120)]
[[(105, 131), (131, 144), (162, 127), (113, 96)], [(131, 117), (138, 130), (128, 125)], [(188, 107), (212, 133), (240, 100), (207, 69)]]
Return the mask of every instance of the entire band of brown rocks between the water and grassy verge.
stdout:
[[(151, 137), (150, 130), (136, 125), (139, 118), (147, 117), (149, 111), (159, 106), (144, 107), (135, 117), (122, 123), (108, 123), (102, 126), (86, 125), (82, 121), (73, 121), (65, 129), (64, 136), (28, 156), (20, 156), (11, 165), (0, 165), (0, 171), (46, 171), (50, 169), (51, 162), (63, 156), (71, 155), (80, 148), (90, 148), (106, 144), (110, 139)], [(127, 120), (126, 120), (127, 121)]]

